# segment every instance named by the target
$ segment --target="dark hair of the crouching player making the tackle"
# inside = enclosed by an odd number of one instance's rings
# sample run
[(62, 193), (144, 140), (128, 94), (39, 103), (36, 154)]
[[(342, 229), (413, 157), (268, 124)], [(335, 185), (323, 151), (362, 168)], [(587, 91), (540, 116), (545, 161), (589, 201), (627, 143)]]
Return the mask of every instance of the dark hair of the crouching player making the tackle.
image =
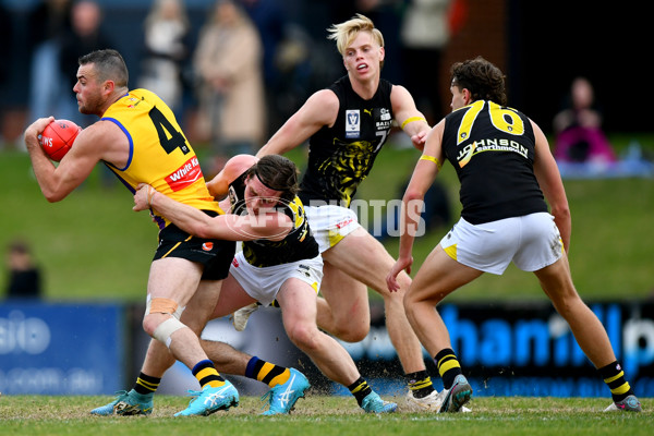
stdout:
[(249, 170), (246, 177), (256, 175), (264, 186), (281, 192), (280, 199), (292, 202), (300, 191), (295, 164), (281, 155), (266, 155)]

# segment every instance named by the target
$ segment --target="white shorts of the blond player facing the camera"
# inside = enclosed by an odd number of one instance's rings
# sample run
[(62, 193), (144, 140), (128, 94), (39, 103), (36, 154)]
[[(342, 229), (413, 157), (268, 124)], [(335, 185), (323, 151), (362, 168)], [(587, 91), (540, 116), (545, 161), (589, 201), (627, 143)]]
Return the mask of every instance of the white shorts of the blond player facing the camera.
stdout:
[(304, 206), (311, 231), (320, 253), (326, 252), (359, 227), (354, 210), (342, 206)]

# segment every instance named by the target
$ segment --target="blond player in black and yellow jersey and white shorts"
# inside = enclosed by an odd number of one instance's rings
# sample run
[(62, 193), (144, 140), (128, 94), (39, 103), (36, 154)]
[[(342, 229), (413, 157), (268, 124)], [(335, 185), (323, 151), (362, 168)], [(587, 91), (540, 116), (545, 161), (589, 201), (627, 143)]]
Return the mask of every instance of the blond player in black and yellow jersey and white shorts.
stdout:
[(300, 197), (325, 261), (318, 326), (346, 341), (362, 340), (371, 324), (367, 287), (374, 289), (384, 298), (386, 326), (405, 373), (410, 407), (436, 410), (437, 392), (402, 305), (411, 279), (403, 274), (400, 289), (388, 291), (384, 279), (393, 259), (349, 208), (393, 122), (417, 148), (429, 125), (405, 88), (380, 78), (384, 37), (370, 19), (359, 14), (335, 24), (329, 38), (336, 40), (347, 75), (313, 94), (257, 156), (283, 154), (308, 140)]

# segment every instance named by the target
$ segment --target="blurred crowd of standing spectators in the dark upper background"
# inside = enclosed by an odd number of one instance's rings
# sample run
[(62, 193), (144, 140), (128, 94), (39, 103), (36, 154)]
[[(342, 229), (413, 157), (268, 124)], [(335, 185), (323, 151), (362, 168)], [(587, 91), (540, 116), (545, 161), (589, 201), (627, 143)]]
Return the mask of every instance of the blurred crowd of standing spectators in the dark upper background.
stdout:
[(393, 61), (384, 76), (421, 96), (419, 108), (434, 121), (443, 116), (437, 69), (421, 64), (428, 57), (437, 65), (457, 2), (0, 0), (9, 48), (0, 60), (0, 147), (21, 147), (22, 130), (39, 117), (93, 122), (72, 92), (77, 58), (111, 47), (128, 62), (130, 87), (161, 96), (219, 167), (256, 152), (313, 92), (344, 74), (326, 28), (358, 12), (386, 36)]

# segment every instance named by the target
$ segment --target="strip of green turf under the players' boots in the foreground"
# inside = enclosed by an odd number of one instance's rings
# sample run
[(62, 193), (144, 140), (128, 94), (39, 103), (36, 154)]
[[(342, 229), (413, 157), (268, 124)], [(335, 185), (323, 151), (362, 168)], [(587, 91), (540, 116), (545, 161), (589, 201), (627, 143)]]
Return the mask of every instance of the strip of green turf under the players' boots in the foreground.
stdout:
[(258, 398), (205, 417), (174, 419), (186, 404), (182, 397), (159, 396), (153, 415), (92, 416), (88, 411), (109, 397), (0, 397), (0, 435), (650, 435), (652, 399), (645, 412), (603, 413), (607, 399), (476, 398), (472, 413), (363, 414), (351, 397), (308, 395), (291, 415), (258, 416)]

